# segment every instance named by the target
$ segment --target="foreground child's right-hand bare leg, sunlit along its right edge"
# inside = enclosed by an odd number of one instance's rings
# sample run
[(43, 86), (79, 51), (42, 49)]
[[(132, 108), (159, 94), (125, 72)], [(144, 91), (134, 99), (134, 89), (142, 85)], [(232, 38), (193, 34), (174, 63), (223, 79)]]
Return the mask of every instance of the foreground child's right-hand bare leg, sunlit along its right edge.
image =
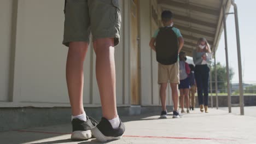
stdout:
[(118, 116), (115, 100), (114, 39), (102, 38), (94, 41), (96, 53), (96, 79), (101, 96), (102, 115), (107, 119)]

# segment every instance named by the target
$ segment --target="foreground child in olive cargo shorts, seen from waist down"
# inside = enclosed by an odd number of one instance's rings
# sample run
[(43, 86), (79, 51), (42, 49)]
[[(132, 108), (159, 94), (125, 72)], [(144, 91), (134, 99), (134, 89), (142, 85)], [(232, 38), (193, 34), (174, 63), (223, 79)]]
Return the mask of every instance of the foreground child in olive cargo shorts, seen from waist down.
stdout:
[[(63, 44), (68, 46), (66, 79), (72, 108), (72, 140), (120, 139), (125, 126), (115, 100), (114, 46), (119, 43), (121, 14), (118, 0), (65, 1)], [(102, 119), (86, 116), (83, 106), (84, 59), (90, 34), (96, 53), (96, 79), (100, 91)]]

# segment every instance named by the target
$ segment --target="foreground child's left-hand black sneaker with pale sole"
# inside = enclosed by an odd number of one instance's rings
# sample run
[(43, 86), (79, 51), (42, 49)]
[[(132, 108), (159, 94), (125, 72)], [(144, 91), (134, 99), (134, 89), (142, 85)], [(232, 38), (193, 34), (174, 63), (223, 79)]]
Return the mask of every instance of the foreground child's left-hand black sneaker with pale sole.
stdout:
[(72, 119), (73, 132), (71, 134), (71, 140), (88, 140), (91, 138), (91, 129), (95, 127), (98, 122), (92, 117), (86, 116), (86, 118), (86, 122), (78, 118)]

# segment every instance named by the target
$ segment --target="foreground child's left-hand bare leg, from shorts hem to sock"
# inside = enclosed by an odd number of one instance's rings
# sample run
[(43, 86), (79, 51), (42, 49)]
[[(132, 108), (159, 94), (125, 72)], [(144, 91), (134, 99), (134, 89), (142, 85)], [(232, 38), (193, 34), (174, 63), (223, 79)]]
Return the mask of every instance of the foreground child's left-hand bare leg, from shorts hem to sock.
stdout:
[(85, 43), (85, 42), (69, 43), (67, 65), (66, 65), (66, 79), (67, 79), (69, 101), (71, 104), (73, 116), (80, 115), (84, 112), (83, 63), (84, 63), (87, 50), (88, 50), (88, 43)]

